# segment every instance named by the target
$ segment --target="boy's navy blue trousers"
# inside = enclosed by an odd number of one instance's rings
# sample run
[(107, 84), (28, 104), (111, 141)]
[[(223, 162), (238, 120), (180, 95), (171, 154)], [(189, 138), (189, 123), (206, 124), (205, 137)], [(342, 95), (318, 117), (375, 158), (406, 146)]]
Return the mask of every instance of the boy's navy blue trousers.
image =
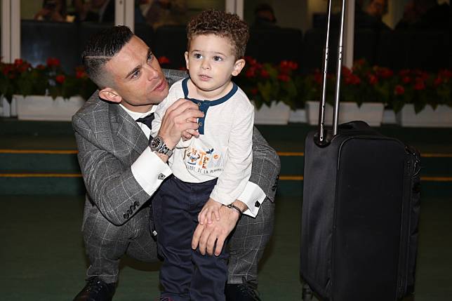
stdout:
[(224, 301), (227, 251), (219, 256), (192, 250), (198, 213), (210, 196), (216, 179), (203, 183), (182, 182), (173, 175), (152, 200), (159, 255), (162, 297), (171, 300)]

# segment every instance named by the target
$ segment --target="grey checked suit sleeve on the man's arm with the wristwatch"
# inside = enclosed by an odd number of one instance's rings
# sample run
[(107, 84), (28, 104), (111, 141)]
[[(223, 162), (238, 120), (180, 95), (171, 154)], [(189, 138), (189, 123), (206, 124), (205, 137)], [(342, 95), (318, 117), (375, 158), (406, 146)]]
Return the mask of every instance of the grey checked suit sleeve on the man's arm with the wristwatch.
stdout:
[[(72, 127), (87, 194), (109, 222), (123, 225), (149, 200), (149, 194), (135, 180), (130, 166), (124, 167), (116, 156), (102, 148), (82, 116), (73, 116)], [(161, 163), (161, 166), (152, 166), (152, 174), (155, 173), (156, 178), (159, 168), (168, 168), (163, 161)], [(162, 181), (156, 179), (156, 186)]]

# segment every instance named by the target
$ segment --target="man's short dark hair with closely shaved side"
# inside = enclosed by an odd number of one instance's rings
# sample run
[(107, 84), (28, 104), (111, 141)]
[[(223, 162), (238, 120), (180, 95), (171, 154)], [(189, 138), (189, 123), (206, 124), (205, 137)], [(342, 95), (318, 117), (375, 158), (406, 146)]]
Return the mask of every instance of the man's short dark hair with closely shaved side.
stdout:
[(93, 34), (88, 40), (81, 61), (86, 73), (99, 88), (112, 86), (106, 75), (105, 64), (132, 39), (133, 32), (126, 26), (114, 26)]

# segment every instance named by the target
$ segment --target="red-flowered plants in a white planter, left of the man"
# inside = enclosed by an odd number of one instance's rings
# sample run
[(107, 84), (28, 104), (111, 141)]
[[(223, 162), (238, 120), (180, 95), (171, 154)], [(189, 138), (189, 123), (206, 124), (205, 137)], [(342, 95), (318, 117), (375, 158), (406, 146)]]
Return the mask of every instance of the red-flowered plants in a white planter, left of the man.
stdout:
[(1, 67), (1, 94), (9, 102), (17, 101), (22, 120), (70, 121), (96, 88), (82, 67), (74, 75), (65, 74), (55, 58), (36, 67), (20, 59)]

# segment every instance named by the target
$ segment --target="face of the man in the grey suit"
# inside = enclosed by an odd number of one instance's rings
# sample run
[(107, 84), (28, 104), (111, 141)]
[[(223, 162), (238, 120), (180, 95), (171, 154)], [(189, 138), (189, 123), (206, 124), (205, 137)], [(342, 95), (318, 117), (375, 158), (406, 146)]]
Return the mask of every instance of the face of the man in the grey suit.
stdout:
[(105, 64), (112, 76), (121, 104), (133, 112), (147, 112), (168, 95), (168, 83), (149, 47), (133, 36), (121, 51)]

